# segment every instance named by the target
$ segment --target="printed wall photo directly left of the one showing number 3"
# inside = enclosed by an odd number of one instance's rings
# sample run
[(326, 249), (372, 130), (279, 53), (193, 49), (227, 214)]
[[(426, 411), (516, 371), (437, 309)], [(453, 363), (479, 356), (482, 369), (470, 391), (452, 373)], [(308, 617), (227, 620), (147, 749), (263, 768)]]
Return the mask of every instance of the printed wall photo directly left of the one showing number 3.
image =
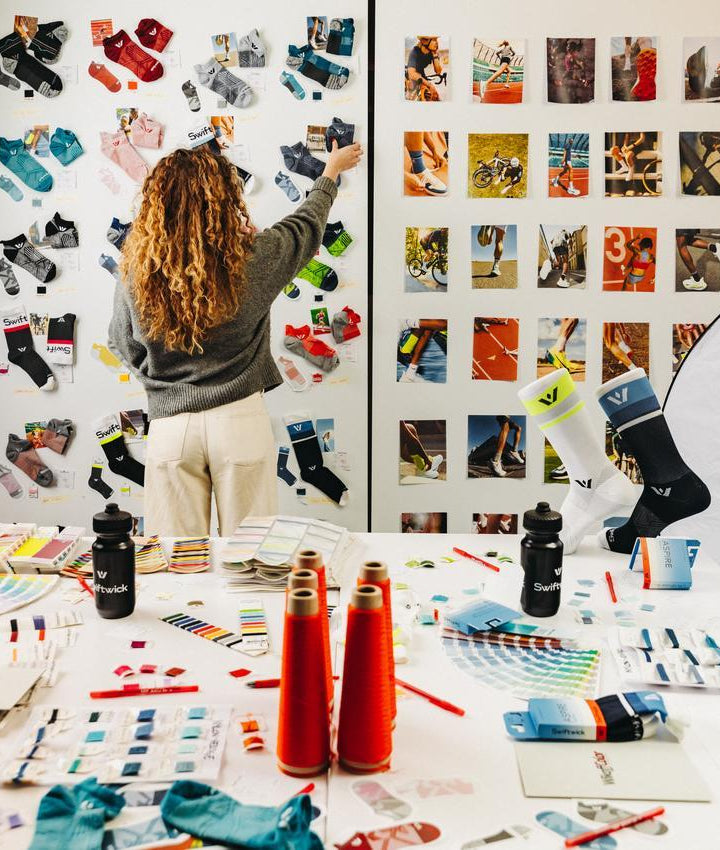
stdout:
[(587, 226), (541, 224), (538, 243), (538, 287), (585, 289)]

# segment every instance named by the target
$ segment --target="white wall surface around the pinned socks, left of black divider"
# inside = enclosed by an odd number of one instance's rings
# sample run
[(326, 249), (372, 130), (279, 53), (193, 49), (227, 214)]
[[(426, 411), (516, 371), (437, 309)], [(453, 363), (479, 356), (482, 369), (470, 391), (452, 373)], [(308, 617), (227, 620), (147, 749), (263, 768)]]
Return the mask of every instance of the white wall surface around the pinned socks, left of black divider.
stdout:
[[(148, 162), (153, 162), (160, 155), (182, 144), (184, 133), (200, 123), (205, 116), (223, 113), (233, 115), (235, 143), (246, 145), (250, 154), (249, 161), (238, 161), (254, 173), (259, 182), (259, 187), (248, 199), (252, 216), (258, 226), (270, 225), (293, 208), (273, 183), (278, 169), (282, 167), (286, 170), (279, 152), (281, 144), (292, 145), (299, 139), (304, 141), (308, 123), (327, 124), (334, 115), (354, 122), (358, 128), (359, 139), (366, 141), (366, 4), (361, 0), (341, 0), (326, 10), (329, 17), (355, 18), (355, 51), (353, 58), (346, 64), (349, 64), (354, 72), (359, 70), (359, 73), (352, 74), (351, 82), (342, 91), (328, 92), (323, 89), (323, 99), (319, 102), (314, 102), (311, 98), (312, 90), (319, 89), (319, 86), (305, 78), (297, 75), (307, 91), (304, 101), (296, 101), (278, 81), (281, 70), (285, 69), (288, 43), (305, 43), (306, 10), (291, 2), (271, 0), (258, 6), (247, 0), (233, 3), (227, 0), (211, 0), (199, 9), (194, 5), (184, 6), (168, 0), (158, 0), (152, 7), (139, 0), (128, 0), (112, 9), (108, 7), (100, 10), (96, 4), (89, 2), (58, 7), (56, 3), (37, 0), (31, 11), (41, 22), (64, 19), (71, 36), (64, 47), (60, 62), (54, 67), (57, 69), (68, 66), (71, 73), (77, 74), (77, 82), (67, 84), (62, 94), (53, 100), (39, 95), (32, 100), (26, 100), (22, 97), (22, 92), (10, 92), (1, 88), (0, 135), (17, 138), (28, 126), (49, 123), (51, 130), (57, 126), (74, 130), (85, 148), (85, 154), (67, 169), (77, 175), (76, 188), (61, 189), (56, 186), (50, 193), (41, 196), (23, 186), (25, 198), (20, 203), (14, 203), (5, 193), (0, 193), (0, 238), (15, 236), (21, 230), (27, 233), (28, 227), (36, 218), (44, 222), (56, 209), (63, 217), (73, 219), (77, 223), (81, 243), (78, 252), (48, 250), (46, 253), (56, 262), (62, 261), (64, 255), (77, 253), (78, 271), (63, 270), (58, 278), (48, 285), (47, 295), (37, 296), (34, 278), (17, 270), (21, 284), (21, 295), (17, 301), (23, 303), (29, 311), (48, 313), (51, 316), (65, 312), (78, 315), (77, 357), (74, 383), (61, 384), (59, 389), (52, 393), (35, 390), (28, 376), (16, 367), (11, 367), (9, 375), (0, 376), (0, 436), (4, 447), (7, 433), (20, 433), (26, 421), (50, 417), (71, 418), (76, 423), (77, 436), (67, 456), (60, 458), (48, 449), (42, 449), (41, 454), (52, 469), (74, 471), (75, 486), (74, 489), (41, 488), (39, 498), (33, 501), (27, 495), (31, 482), (14, 469), (25, 488), (25, 496), (11, 500), (5, 490), (0, 488), (0, 518), (6, 521), (89, 525), (92, 514), (104, 504), (102, 498), (86, 484), (92, 459), (102, 457), (90, 427), (91, 422), (102, 414), (146, 406), (144, 392), (139, 383), (134, 380), (121, 383), (117, 375), (111, 374), (90, 357), (92, 344), (106, 341), (112, 305), (114, 281), (98, 265), (98, 256), (101, 253), (108, 253), (117, 258), (117, 252), (105, 239), (105, 231), (114, 215), (125, 221), (132, 216), (137, 192), (136, 185), (101, 155), (99, 132), (114, 131), (117, 125), (117, 107), (137, 106), (166, 126), (165, 143), (160, 152), (153, 156), (150, 151), (141, 151), (141, 155)], [(156, 17), (174, 30), (174, 37), (166, 52), (159, 56), (165, 65), (165, 74), (159, 81), (149, 84), (138, 82), (137, 91), (128, 91), (127, 81), (135, 78), (129, 71), (105, 59), (101, 47), (92, 47), (90, 19), (102, 17), (109, 12), (114, 13), (115, 29), (124, 28), (133, 39), (136, 38), (134, 30), (139, 19), (145, 16)], [(4, 20), (9, 31), (12, 26), (9, 10), (4, 13)], [(251, 84), (253, 79), (261, 83), (261, 86), (256, 88), (254, 104), (246, 110), (233, 107), (218, 109), (216, 95), (198, 85), (202, 109), (192, 113), (180, 87), (188, 78), (196, 82), (192, 66), (210, 57), (211, 35), (217, 32), (236, 32), (239, 38), (254, 27), (260, 30), (268, 51), (268, 67), (258, 73), (248, 74), (241, 71), (238, 74), (245, 76)], [(174, 55), (175, 64), (172, 67), (167, 61), (168, 52)], [(342, 57), (329, 58), (343, 63)], [(88, 76), (87, 67), (91, 60), (104, 62), (122, 81), (123, 89), (119, 93), (111, 94)], [(53, 157), (42, 162), (55, 177), (63, 170)], [(121, 185), (120, 194), (112, 194), (100, 181), (98, 172), (105, 168), (113, 172)], [(6, 169), (2, 167), (0, 172), (7, 174)], [(342, 219), (347, 230), (353, 235), (355, 244), (347, 252), (346, 258), (339, 263), (332, 262), (333, 258), (330, 258), (324, 249), (321, 251), (320, 259), (337, 269), (341, 282), (341, 288), (325, 299), (331, 316), (345, 304), (350, 304), (363, 319), (367, 317), (365, 180), (366, 173), (362, 167), (356, 173), (344, 177), (344, 186), (331, 214), (332, 221)], [(310, 186), (309, 181), (302, 177), (296, 179), (296, 184), (303, 193)], [(33, 201), (38, 201), (40, 206), (34, 207)], [(286, 322), (301, 325), (309, 321), (309, 310), (313, 306), (313, 296), (317, 290), (302, 282), (300, 286), (303, 291), (301, 301), (290, 302), (281, 296), (274, 308), (275, 353), (282, 353), (281, 333)], [(15, 303), (4, 295), (0, 296), (0, 302), (0, 307), (12, 306)], [(281, 445), (290, 445), (281, 421), (283, 414), (307, 410), (313, 418), (334, 417), (336, 446), (347, 450), (351, 465), (349, 472), (338, 470), (351, 491), (347, 507), (336, 507), (321, 498), (318, 491), (309, 486), (308, 503), (301, 504), (294, 489), (278, 481), (281, 510), (320, 516), (355, 529), (364, 529), (367, 525), (367, 322), (363, 323), (362, 331), (363, 336), (355, 343), (357, 362), (342, 362), (337, 371), (322, 385), (313, 386), (307, 393), (293, 393), (283, 386), (267, 396), (276, 426), (276, 437)], [(36, 338), (35, 344), (42, 353), (44, 340)], [(5, 349), (0, 345), (0, 360), (6, 359), (4, 352)], [(310, 364), (299, 364), (299, 368), (309, 379), (313, 371)], [(0, 458), (0, 462), (4, 460)], [(291, 468), (297, 474), (294, 460), (291, 461)], [(141, 488), (132, 485), (129, 495), (121, 495), (120, 487), (127, 482), (113, 475), (107, 465), (103, 478), (115, 488), (114, 498), (117, 497), (123, 507), (135, 515), (142, 515)]]

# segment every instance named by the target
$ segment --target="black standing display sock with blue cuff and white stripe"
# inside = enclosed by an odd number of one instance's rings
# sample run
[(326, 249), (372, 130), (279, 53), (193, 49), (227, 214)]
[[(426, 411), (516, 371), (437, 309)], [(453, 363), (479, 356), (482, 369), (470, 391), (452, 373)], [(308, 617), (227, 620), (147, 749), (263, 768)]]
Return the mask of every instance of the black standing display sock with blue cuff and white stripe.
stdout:
[(631, 369), (597, 390), (600, 406), (638, 462), (645, 486), (630, 519), (604, 529), (600, 543), (629, 554), (638, 537), (658, 537), (671, 523), (701, 513), (710, 491), (677, 450), (644, 369)]

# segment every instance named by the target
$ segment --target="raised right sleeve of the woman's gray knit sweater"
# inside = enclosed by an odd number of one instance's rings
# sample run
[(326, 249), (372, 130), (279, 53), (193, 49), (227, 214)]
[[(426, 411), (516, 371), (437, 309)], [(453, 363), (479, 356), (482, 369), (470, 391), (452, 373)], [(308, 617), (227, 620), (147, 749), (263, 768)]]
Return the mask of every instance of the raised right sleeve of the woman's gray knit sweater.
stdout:
[(318, 177), (294, 213), (257, 235), (255, 271), (271, 300), (317, 253), (336, 197), (335, 182), (329, 177)]

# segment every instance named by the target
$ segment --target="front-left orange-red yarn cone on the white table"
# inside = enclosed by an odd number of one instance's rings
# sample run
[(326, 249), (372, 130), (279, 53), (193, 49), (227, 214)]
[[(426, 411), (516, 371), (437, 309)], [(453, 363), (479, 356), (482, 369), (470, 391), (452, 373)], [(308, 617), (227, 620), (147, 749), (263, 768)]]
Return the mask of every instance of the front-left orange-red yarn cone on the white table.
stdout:
[(320, 606), (316, 591), (307, 587), (287, 595), (277, 762), (290, 776), (315, 776), (330, 763)]

